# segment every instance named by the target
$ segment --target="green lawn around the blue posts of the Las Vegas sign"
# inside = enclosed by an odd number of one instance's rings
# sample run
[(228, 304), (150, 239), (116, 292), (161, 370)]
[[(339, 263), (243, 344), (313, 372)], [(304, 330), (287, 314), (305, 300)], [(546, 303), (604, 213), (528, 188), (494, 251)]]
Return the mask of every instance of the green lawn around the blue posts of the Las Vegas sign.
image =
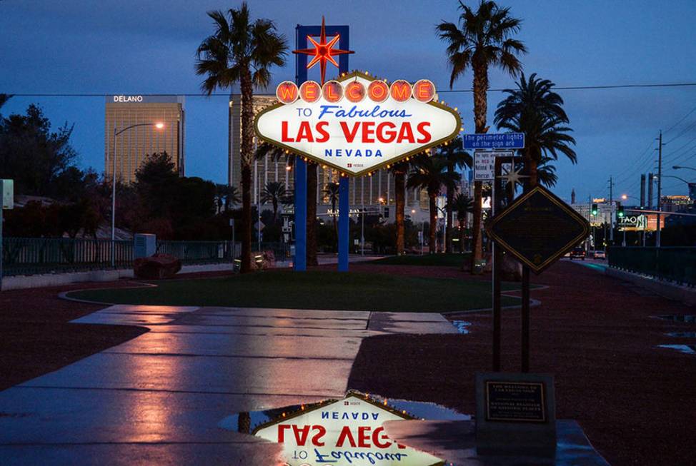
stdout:
[[(446, 312), (487, 308), (490, 283), (380, 273), (270, 271), (224, 278), (154, 281), (157, 288), (84, 290), (71, 298), (114, 304)], [(514, 284), (504, 289), (517, 288)], [(503, 305), (516, 304), (503, 297)]]

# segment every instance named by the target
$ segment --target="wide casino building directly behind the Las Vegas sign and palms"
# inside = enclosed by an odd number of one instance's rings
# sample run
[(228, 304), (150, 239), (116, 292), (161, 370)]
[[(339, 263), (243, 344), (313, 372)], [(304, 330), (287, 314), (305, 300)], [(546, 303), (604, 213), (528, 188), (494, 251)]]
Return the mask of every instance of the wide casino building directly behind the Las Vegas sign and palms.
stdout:
[[(275, 96), (254, 96), (254, 114), (276, 102)], [(254, 138), (254, 146), (259, 143)], [(242, 185), (242, 96), (232, 94), (229, 99), (229, 141), (228, 141), (228, 171), (227, 182), (230, 186)], [(271, 181), (282, 181), (286, 188), (293, 188), (294, 174), (289, 171), (284, 158), (273, 161), (264, 158), (260, 161), (252, 161), (252, 204), (261, 203), (261, 194), (264, 186)], [(324, 187), (327, 183), (338, 181), (337, 171), (331, 168), (317, 168), (317, 199), (319, 206), (317, 215), (326, 215), (331, 208), (329, 201), (324, 196)], [(375, 171), (372, 176), (350, 178), (350, 204), (351, 208), (362, 206), (379, 207), (380, 212), (387, 221), (394, 221), (394, 176), (387, 170)], [(427, 194), (420, 192), (407, 192), (407, 215), (412, 215), (414, 220), (427, 220), (428, 198)], [(415, 210), (416, 213), (411, 213)]]

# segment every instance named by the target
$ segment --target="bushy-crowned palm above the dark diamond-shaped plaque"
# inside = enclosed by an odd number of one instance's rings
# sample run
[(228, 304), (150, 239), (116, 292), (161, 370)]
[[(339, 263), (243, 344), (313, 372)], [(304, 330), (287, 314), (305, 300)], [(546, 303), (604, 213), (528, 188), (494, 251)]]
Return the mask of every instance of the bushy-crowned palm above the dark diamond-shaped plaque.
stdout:
[(537, 166), (542, 157), (558, 160), (558, 153), (562, 153), (577, 163), (577, 155), (570, 147), (575, 145), (575, 139), (567, 134), (572, 128), (565, 126), (570, 120), (563, 110), (563, 99), (552, 91), (553, 86), (548, 79), (537, 79), (536, 74), (529, 80), (522, 74), (517, 89), (505, 89), (507, 97), (495, 110), (498, 128), (525, 133), (525, 148), (519, 152), (530, 177), (529, 188), (537, 186)]

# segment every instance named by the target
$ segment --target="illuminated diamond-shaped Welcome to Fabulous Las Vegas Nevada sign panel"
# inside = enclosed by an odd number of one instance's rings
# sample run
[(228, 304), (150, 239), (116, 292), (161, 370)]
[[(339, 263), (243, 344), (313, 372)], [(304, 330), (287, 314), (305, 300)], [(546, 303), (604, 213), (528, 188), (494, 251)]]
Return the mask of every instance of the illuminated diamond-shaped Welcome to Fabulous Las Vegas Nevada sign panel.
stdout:
[(389, 85), (355, 71), (324, 86), (284, 81), (276, 96), (254, 120), (259, 138), (353, 176), (439, 146), (462, 126), (427, 79)]

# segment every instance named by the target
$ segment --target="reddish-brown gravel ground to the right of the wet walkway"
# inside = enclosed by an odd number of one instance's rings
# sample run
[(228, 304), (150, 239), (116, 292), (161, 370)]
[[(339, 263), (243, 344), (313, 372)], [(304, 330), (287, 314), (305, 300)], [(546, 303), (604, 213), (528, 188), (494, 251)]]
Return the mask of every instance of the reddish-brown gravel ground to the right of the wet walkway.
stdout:
[[(653, 317), (696, 309), (575, 263), (532, 283), (550, 285), (532, 290), (542, 301), (532, 308), (532, 371), (555, 375), (557, 417), (578, 420), (612, 465), (696, 464), (696, 356), (655, 348), (695, 344), (665, 333), (696, 325)], [(469, 335), (363, 340), (349, 388), (474, 412), (474, 373), (491, 368), (491, 318), (459, 318), (472, 322)], [(502, 329), (503, 370), (517, 372), (519, 310), (503, 312)]]

